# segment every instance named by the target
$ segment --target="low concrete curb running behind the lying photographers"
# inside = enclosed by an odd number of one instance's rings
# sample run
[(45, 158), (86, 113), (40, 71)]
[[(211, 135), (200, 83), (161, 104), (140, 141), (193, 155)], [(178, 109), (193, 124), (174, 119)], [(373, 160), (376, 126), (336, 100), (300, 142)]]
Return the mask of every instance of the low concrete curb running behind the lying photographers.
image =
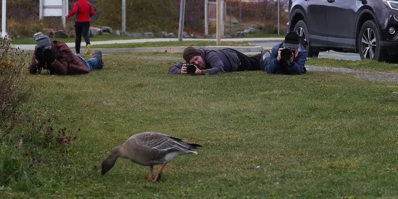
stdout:
[[(204, 49), (222, 49), (232, 48), (242, 53), (260, 53), (263, 50), (262, 46), (194, 46), (195, 48)], [(121, 53), (150, 53), (150, 52), (168, 52), (168, 53), (183, 53), (186, 46), (165, 46), (165, 47), (144, 47), (144, 48), (93, 48), (91, 53), (95, 50), (100, 50), (103, 54), (121, 54)], [(33, 53), (34, 50), (25, 50)], [(72, 49), (75, 53), (75, 49)], [(86, 54), (87, 49), (81, 49), (81, 54)]]

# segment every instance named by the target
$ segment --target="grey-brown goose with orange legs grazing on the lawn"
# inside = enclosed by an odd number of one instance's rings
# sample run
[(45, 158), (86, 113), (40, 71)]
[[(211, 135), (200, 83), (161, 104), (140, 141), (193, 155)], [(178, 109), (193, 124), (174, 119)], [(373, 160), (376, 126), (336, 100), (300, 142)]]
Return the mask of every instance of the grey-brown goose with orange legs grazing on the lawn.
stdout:
[[(102, 161), (101, 175), (105, 175), (114, 166), (118, 157), (149, 166), (147, 181), (160, 181), (166, 165), (179, 155), (198, 154), (192, 149), (200, 149), (200, 144), (186, 143), (180, 138), (160, 132), (147, 131), (130, 136), (121, 146), (112, 149), (109, 156)], [(153, 166), (162, 165), (152, 179)]]

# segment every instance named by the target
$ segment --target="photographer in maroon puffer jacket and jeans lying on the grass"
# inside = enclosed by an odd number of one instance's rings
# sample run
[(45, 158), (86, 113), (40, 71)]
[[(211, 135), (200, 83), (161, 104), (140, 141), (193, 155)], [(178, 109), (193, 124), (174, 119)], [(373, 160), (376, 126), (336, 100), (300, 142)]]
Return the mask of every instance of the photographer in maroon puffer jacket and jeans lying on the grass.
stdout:
[(29, 65), (30, 74), (40, 74), (46, 69), (52, 75), (76, 75), (90, 73), (103, 67), (102, 53), (94, 52), (93, 58), (84, 60), (80, 54), (74, 54), (66, 43), (60, 40), (51, 41), (46, 35), (36, 38), (32, 62)]

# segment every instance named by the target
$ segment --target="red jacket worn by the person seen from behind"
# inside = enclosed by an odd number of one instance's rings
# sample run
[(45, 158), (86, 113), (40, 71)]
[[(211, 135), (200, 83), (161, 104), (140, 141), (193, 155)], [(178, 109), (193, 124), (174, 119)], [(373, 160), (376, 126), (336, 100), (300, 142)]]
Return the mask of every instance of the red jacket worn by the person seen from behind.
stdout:
[(94, 15), (94, 7), (87, 0), (78, 0), (73, 4), (71, 13), (66, 17), (71, 17), (76, 14), (75, 21), (86, 22), (90, 21), (90, 16)]

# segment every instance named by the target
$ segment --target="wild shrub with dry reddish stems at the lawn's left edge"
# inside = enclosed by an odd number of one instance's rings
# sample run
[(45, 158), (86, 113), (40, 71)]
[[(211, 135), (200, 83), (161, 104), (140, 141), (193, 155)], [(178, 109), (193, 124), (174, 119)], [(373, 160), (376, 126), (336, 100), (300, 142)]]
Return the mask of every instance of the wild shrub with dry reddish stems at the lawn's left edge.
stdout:
[(69, 146), (76, 140), (66, 127), (55, 130), (56, 114), (49, 115), (53, 110), (32, 106), (34, 87), (22, 70), (30, 63), (28, 55), (12, 48), (8, 38), (1, 39), (0, 187), (17, 191), (40, 186), (42, 172), (49, 170), (43, 167), (67, 163)]

